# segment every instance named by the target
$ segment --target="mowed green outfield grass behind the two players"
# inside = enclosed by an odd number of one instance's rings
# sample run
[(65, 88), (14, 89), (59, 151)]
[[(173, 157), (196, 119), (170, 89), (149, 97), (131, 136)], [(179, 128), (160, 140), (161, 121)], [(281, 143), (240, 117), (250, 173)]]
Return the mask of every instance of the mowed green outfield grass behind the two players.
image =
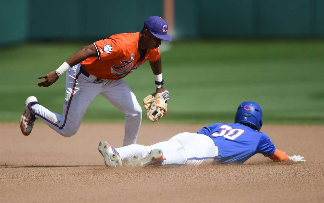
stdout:
[[(25, 99), (35, 95), (62, 113), (65, 75), (49, 88), (38, 76), (56, 69), (87, 43), (37, 43), (0, 50), (0, 122), (17, 122)], [(240, 102), (258, 102), (265, 123), (324, 124), (324, 41), (186, 41), (162, 53), (168, 113), (161, 123), (232, 122)], [(155, 91), (146, 63), (124, 80), (139, 103)], [(144, 108), (143, 108), (144, 110)], [(143, 123), (149, 123), (145, 119)], [(85, 122), (123, 122), (102, 96)]]

